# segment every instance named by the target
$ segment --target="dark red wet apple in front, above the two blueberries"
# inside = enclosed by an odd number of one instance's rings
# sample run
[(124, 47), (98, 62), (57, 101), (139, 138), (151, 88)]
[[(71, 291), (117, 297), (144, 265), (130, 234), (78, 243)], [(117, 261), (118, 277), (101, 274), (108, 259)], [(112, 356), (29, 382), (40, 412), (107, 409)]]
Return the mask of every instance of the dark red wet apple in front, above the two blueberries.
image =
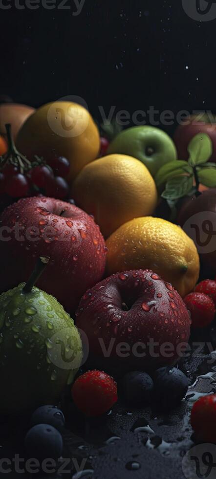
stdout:
[(173, 365), (190, 336), (183, 300), (148, 269), (117, 273), (88, 289), (76, 317), (89, 362), (115, 373)]

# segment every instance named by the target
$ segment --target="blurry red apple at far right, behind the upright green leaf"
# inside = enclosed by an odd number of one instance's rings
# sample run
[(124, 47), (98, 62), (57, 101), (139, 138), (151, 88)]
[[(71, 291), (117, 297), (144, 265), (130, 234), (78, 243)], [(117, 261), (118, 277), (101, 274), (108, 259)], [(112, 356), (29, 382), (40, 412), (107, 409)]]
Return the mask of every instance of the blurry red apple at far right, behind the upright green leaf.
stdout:
[[(200, 120), (199, 120), (200, 116)], [(213, 153), (209, 161), (216, 161), (216, 123), (211, 123), (208, 115), (191, 115), (179, 125), (174, 133), (174, 143), (180, 160), (187, 160), (188, 144), (197, 133), (207, 133), (213, 143)]]

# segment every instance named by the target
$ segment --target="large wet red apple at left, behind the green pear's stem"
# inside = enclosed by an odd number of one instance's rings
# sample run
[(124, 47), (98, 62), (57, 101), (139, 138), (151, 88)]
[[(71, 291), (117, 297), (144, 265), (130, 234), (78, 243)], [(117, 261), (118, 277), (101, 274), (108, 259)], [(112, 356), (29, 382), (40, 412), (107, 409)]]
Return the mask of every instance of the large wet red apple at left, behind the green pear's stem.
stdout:
[(58, 199), (22, 198), (0, 217), (0, 292), (26, 281), (43, 255), (51, 261), (37, 285), (67, 311), (104, 274), (106, 246), (93, 218)]

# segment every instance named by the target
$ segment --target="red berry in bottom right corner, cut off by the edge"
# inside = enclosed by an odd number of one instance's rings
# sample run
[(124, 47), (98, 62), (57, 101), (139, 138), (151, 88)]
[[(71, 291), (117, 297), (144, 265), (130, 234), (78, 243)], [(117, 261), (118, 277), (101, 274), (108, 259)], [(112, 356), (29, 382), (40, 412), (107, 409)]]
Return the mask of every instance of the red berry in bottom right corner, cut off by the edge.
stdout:
[(216, 443), (216, 394), (200, 397), (194, 403), (191, 425), (198, 441)]

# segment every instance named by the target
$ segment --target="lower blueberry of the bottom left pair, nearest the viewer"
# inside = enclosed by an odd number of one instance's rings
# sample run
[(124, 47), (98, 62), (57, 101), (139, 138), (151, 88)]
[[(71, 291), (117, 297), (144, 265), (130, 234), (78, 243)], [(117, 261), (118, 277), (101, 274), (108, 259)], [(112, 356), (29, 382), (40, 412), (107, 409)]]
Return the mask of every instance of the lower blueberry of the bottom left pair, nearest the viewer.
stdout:
[(62, 436), (50, 424), (37, 424), (25, 436), (25, 451), (28, 457), (39, 460), (62, 456)]

